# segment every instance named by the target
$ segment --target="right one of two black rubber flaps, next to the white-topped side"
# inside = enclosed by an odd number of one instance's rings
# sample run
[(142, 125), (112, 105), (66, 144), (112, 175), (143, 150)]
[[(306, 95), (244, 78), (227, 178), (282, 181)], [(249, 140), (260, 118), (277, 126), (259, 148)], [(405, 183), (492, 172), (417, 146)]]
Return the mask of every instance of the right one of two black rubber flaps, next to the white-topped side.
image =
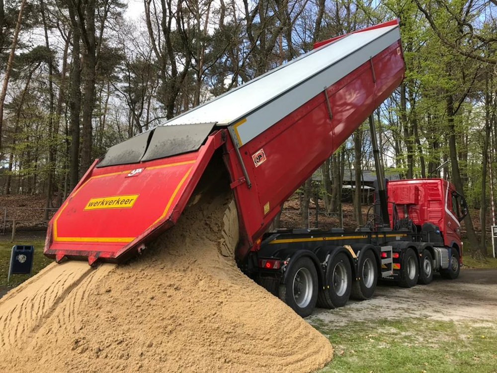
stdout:
[(156, 127), (142, 161), (198, 150), (215, 124), (198, 123)]

